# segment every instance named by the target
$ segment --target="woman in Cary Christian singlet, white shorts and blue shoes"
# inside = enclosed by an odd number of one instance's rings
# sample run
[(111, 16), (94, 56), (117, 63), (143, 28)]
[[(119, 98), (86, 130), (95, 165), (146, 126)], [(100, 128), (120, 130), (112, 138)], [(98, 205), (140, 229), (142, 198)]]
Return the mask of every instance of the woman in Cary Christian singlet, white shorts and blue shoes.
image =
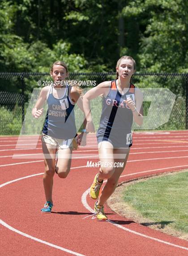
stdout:
[[(77, 136), (74, 117), (75, 103), (83, 111), (81, 89), (76, 86), (63, 84), (68, 77), (68, 67), (64, 62), (57, 61), (51, 67), (51, 77), (54, 81), (52, 86), (45, 86), (39, 95), (37, 103), (32, 110), (34, 118), (43, 114), (43, 104), (47, 101), (48, 110), (43, 126), (42, 146), (44, 154), (45, 172), (43, 186), (46, 203), (42, 212), (50, 213), (53, 200), (53, 176), (55, 172), (60, 178), (66, 178), (71, 166), (72, 150), (77, 144), (85, 145), (86, 130)], [(84, 127), (86, 120), (84, 121)], [(77, 138), (75, 138), (77, 136)], [(75, 138), (75, 139), (74, 139)], [(56, 153), (58, 160), (56, 162)]]

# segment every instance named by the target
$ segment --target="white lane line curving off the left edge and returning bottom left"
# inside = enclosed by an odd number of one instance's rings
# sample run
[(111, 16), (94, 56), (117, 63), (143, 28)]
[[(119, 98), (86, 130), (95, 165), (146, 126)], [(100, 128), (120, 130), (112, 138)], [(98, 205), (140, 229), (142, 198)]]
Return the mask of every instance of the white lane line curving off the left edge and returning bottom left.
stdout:
[[(86, 167), (86, 166), (72, 167), (71, 169), (78, 169), (78, 168), (84, 168), (84, 167)], [(8, 185), (8, 184), (11, 184), (11, 183), (13, 183), (13, 182), (16, 182), (16, 181), (18, 181), (18, 180), (24, 180), (24, 179), (31, 178), (31, 177), (38, 176), (38, 175), (43, 175), (43, 172), (42, 172), (42, 173), (33, 174), (33, 175), (28, 175), (28, 176), (25, 176), (25, 177), (21, 177), (21, 178), (18, 178), (18, 179), (16, 179), (16, 180), (10, 180), (10, 181), (8, 181), (8, 182), (5, 182), (4, 184), (1, 184), (1, 185), (0, 185), (0, 188), (6, 186), (6, 185)], [(73, 252), (73, 251), (68, 250), (68, 249), (66, 249), (66, 248), (64, 248), (64, 247), (60, 247), (60, 246), (57, 246), (57, 245), (55, 245), (55, 244), (48, 243), (47, 241), (43, 241), (43, 240), (41, 240), (41, 239), (38, 239), (38, 238), (35, 238), (35, 237), (33, 237), (33, 236), (30, 236), (30, 235), (28, 235), (28, 234), (26, 234), (26, 233), (23, 233), (23, 232), (21, 232), (20, 230), (14, 229), (13, 227), (9, 226), (9, 225), (8, 225), (6, 222), (4, 222), (3, 220), (0, 220), (0, 224), (3, 225), (4, 227), (6, 227), (7, 229), (10, 229), (10, 230), (16, 232), (17, 234), (20, 234), (20, 235), (22, 235), (22, 236), (25, 236), (26, 238), (30, 238), (30, 239), (32, 239), (32, 240), (34, 240), (34, 241), (39, 242), (39, 243), (46, 244), (46, 245), (48, 245), (48, 246), (54, 247), (54, 248), (59, 249), (59, 250), (64, 251), (64, 252), (68, 252), (68, 253), (73, 254), (73, 255), (85, 256), (85, 255), (80, 254), (80, 253), (78, 253), (78, 252)]]

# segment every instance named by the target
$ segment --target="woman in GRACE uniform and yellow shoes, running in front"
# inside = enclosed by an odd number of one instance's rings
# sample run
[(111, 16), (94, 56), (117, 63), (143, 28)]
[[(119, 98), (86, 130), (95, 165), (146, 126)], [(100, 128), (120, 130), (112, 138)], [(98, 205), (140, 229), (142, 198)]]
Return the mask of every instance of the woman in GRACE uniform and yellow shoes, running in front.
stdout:
[[(134, 119), (138, 125), (143, 122), (143, 95), (141, 90), (131, 83), (135, 71), (135, 60), (130, 56), (123, 56), (116, 65), (116, 79), (100, 83), (83, 97), (87, 130), (94, 132), (90, 100), (103, 94), (103, 109), (97, 130), (101, 168), (90, 187), (90, 197), (98, 199), (94, 205), (97, 220), (107, 220), (103, 205), (114, 192), (124, 171), (132, 146), (132, 121)], [(123, 167), (116, 167), (117, 162), (121, 163), (118, 166)], [(107, 183), (99, 196), (104, 179), (107, 179)]]

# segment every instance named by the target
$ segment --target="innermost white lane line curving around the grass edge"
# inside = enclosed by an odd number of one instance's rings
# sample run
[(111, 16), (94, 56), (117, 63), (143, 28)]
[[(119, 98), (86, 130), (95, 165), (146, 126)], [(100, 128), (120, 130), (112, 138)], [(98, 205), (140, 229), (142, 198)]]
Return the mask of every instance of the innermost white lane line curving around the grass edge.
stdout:
[[(141, 174), (141, 173), (146, 173), (146, 172), (153, 172), (153, 171), (162, 171), (162, 170), (166, 170), (166, 169), (174, 169), (174, 168), (179, 168), (179, 167), (188, 167), (188, 165), (184, 165), (184, 166), (171, 166), (171, 167), (166, 167), (166, 168), (161, 168), (161, 169), (153, 169), (153, 170), (148, 170), (148, 171), (141, 171), (141, 172), (136, 172), (136, 173), (131, 173), (131, 174), (127, 174), (127, 175), (122, 175), (120, 176), (120, 178), (122, 177), (125, 177), (125, 176), (130, 176), (130, 175), (136, 175), (136, 174)], [(107, 182), (107, 180), (105, 180), (104, 182)], [(83, 194), (82, 194), (82, 197), (81, 197), (81, 202), (83, 204), (83, 206), (88, 210), (90, 211), (91, 213), (94, 213), (94, 210), (88, 205), (87, 203), (87, 195), (89, 194), (90, 192), (90, 189), (87, 189)], [(164, 244), (167, 244), (167, 245), (171, 245), (173, 247), (178, 247), (178, 248), (181, 248), (181, 249), (184, 249), (184, 250), (188, 250), (187, 247), (183, 247), (183, 246), (179, 246), (179, 245), (176, 245), (174, 243), (169, 243), (169, 242), (166, 242), (166, 241), (163, 241), (161, 239), (158, 239), (158, 238), (153, 238), (153, 237), (150, 237), (150, 236), (147, 236), (145, 234), (142, 234), (142, 233), (139, 233), (137, 231), (134, 231), (134, 230), (131, 230), (131, 229), (128, 229), (128, 228), (125, 228), (119, 224), (116, 224), (115, 222), (113, 222), (112, 220), (107, 220), (107, 222), (111, 223), (112, 225), (115, 225), (116, 227), (120, 228), (120, 229), (123, 229), (125, 231), (128, 231), (130, 233), (133, 233), (133, 234), (136, 234), (136, 235), (139, 235), (141, 237), (145, 237), (145, 238), (149, 238), (149, 239), (152, 239), (154, 241), (157, 241), (159, 243), (164, 243)]]

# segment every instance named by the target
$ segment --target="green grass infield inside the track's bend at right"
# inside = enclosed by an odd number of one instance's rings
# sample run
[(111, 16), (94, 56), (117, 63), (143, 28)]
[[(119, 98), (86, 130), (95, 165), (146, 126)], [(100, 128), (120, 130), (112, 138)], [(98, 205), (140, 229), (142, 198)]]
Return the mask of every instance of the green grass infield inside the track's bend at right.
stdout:
[(127, 186), (123, 199), (148, 220), (188, 233), (188, 172)]

